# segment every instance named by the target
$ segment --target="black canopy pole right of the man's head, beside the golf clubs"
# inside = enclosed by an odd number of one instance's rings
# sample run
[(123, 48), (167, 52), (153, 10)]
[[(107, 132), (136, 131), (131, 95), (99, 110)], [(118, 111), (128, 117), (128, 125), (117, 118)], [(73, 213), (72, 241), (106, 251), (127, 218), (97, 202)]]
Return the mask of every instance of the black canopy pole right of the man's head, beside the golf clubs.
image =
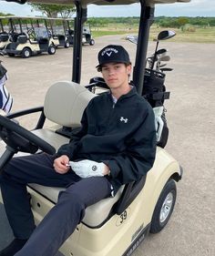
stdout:
[[(140, 6), (141, 13), (138, 27), (138, 45), (136, 52), (136, 62), (133, 70), (133, 81), (134, 85), (137, 87), (138, 94), (142, 95), (147, 59), (149, 30), (151, 24), (154, 21), (155, 8), (147, 6), (145, 0), (140, 0)], [(139, 72), (139, 70), (141, 70), (141, 72)]]

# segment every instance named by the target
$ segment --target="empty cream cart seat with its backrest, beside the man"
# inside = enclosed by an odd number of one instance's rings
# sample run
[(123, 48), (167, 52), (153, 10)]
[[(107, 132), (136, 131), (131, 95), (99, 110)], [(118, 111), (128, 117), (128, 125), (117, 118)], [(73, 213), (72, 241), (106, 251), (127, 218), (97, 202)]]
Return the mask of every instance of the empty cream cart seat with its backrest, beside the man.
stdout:
[(33, 132), (40, 138), (44, 138), (56, 150), (69, 142), (69, 135), (73, 128), (80, 127), (80, 121), (84, 109), (89, 100), (96, 97), (86, 87), (69, 81), (59, 81), (49, 87), (44, 101), (44, 114), (46, 119), (56, 124), (57, 128), (71, 128), (69, 132), (60, 133), (54, 128), (39, 128)]

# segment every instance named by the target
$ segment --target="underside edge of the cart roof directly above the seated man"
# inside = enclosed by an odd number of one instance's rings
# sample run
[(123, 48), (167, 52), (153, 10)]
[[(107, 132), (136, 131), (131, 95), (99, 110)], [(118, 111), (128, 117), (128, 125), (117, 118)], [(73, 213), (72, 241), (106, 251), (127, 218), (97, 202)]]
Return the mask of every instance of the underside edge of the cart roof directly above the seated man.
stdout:
[[(27, 2), (31, 3), (41, 3), (41, 4), (56, 4), (56, 5), (72, 5), (75, 2), (81, 2), (82, 5), (131, 5), (134, 3), (139, 3), (138, 0), (28, 0)], [(187, 3), (190, 0), (147, 0), (148, 5), (155, 5), (155, 4), (172, 4), (172, 3)]]

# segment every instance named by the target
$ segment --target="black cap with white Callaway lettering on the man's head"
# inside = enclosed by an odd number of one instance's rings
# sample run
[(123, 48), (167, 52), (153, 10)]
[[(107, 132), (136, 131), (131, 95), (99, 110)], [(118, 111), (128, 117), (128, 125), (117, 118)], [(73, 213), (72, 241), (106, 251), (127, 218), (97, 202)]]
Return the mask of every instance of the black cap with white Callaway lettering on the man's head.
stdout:
[(101, 67), (102, 65), (111, 62), (130, 64), (128, 52), (123, 46), (106, 46), (99, 51), (97, 59), (99, 63), (97, 67)]

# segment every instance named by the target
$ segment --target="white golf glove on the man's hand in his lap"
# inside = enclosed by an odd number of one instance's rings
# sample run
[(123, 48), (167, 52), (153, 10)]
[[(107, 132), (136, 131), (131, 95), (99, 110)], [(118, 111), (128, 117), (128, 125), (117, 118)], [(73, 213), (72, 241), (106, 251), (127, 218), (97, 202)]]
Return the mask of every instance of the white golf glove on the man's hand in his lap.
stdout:
[(98, 163), (92, 160), (69, 161), (69, 165), (76, 172), (77, 176), (81, 178), (104, 176), (105, 164), (102, 162)]

